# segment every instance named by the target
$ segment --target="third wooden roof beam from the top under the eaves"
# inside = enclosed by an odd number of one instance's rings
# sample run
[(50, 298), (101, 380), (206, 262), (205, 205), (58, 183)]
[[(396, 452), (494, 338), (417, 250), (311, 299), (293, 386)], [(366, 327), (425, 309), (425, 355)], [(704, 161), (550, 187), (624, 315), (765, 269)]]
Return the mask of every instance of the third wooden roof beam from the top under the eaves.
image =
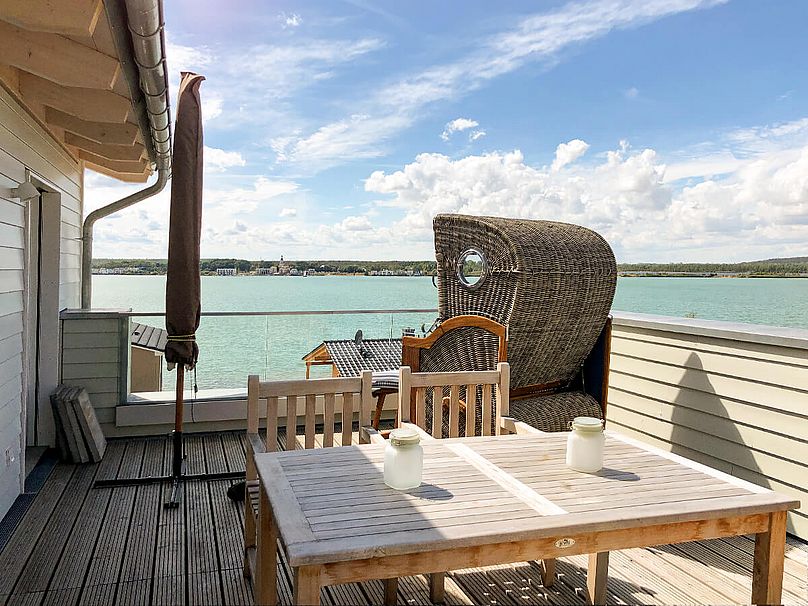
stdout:
[(123, 123), (132, 106), (129, 99), (110, 91), (59, 86), (26, 72), (20, 73), (20, 94), (91, 122)]

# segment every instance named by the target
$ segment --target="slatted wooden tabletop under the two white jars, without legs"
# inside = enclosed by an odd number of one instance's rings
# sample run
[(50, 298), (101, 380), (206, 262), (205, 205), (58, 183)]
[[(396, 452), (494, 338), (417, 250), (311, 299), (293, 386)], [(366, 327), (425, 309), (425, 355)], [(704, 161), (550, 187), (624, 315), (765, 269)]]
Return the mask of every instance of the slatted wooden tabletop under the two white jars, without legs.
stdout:
[(424, 484), (403, 492), (383, 482), (384, 445), (258, 455), (290, 563), (754, 516), (795, 504), (614, 435), (597, 474), (566, 467), (563, 434), (422, 447)]

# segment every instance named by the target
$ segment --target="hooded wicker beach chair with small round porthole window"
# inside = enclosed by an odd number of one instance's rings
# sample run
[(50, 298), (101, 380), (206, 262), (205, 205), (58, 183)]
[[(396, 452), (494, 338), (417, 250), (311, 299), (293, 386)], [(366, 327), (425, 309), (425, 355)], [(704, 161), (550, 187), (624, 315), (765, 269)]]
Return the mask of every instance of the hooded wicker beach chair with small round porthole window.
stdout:
[[(440, 320), (475, 315), (508, 329), (511, 416), (542, 431), (604, 418), (617, 282), (606, 241), (551, 221), (438, 215), (433, 226)], [(498, 352), (496, 335), (470, 326), (423, 350), (419, 368), (490, 370)]]

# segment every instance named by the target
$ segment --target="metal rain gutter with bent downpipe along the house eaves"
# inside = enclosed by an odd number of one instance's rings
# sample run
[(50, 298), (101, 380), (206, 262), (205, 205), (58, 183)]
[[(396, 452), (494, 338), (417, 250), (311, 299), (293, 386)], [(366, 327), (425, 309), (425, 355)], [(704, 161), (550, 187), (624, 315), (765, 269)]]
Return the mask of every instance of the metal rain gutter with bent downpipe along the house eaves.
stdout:
[[(93, 227), (96, 221), (160, 193), (171, 177), (171, 113), (162, 0), (105, 0), (118, 57), (157, 181), (94, 210), (82, 226), (81, 307), (92, 305)], [(149, 136), (146, 136), (148, 133)]]

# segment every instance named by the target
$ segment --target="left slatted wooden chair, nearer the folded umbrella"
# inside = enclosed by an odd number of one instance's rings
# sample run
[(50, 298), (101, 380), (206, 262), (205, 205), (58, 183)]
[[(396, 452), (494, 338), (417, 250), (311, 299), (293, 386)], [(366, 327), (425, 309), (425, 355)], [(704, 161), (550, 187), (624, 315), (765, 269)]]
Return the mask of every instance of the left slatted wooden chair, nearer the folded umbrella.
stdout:
[[(286, 404), (286, 438), (284, 450), (315, 447), (315, 430), (318, 409), (322, 410), (324, 448), (350, 446), (353, 436), (354, 417), (359, 419), (359, 427), (370, 424), (373, 407), (371, 397), (372, 373), (367, 370), (359, 377), (336, 377), (329, 379), (304, 379), (298, 381), (260, 381), (257, 375), (250, 375), (247, 382), (247, 456), (246, 456), (246, 495), (244, 499), (244, 576), (252, 577), (254, 585), (260, 583), (259, 571), (262, 563), (257, 562), (257, 535), (259, 480), (255, 466), (255, 455), (275, 452), (280, 446), (278, 439), (279, 404)], [(298, 399), (305, 403), (305, 414), (301, 434), (297, 435)], [(341, 400), (341, 402), (340, 402)], [(265, 403), (265, 408), (261, 403)], [(262, 409), (266, 410), (266, 440), (258, 433)], [(335, 433), (335, 417), (339, 415), (341, 431)], [(290, 421), (291, 420), (291, 421)], [(360, 431), (360, 441), (363, 440)], [(367, 440), (367, 434), (364, 434)]]

